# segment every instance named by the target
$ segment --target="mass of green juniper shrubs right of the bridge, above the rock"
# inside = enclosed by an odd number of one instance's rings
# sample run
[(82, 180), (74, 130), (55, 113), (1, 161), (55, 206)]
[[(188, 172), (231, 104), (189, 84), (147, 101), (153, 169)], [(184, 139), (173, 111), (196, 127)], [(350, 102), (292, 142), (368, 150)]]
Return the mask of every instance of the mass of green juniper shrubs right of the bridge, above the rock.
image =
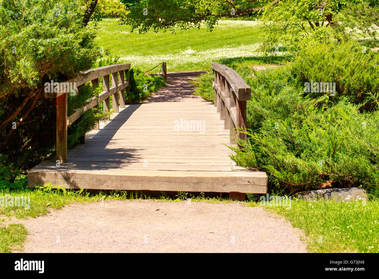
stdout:
[[(310, 46), (277, 69), (235, 68), (252, 90), (248, 140), (238, 142), (241, 149), (231, 147), (238, 165), (265, 171), (271, 186), (287, 194), (362, 186), (379, 196), (377, 74), (364, 69), (377, 56), (348, 52), (348, 46)], [(329, 76), (338, 77), (336, 96), (304, 93), (304, 80)], [(207, 99), (213, 99), (211, 80), (207, 73), (195, 81), (201, 84), (198, 94)]]

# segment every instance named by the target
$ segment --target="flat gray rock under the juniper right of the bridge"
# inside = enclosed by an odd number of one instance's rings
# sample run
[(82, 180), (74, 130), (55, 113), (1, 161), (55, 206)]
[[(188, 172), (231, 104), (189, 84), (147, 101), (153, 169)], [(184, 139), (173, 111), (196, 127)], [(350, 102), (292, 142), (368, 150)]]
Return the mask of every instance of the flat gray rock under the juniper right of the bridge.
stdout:
[(326, 200), (338, 200), (341, 202), (365, 201), (368, 195), (362, 188), (331, 188), (315, 191), (304, 191), (298, 193), (299, 199), (311, 202), (315, 199), (324, 198)]

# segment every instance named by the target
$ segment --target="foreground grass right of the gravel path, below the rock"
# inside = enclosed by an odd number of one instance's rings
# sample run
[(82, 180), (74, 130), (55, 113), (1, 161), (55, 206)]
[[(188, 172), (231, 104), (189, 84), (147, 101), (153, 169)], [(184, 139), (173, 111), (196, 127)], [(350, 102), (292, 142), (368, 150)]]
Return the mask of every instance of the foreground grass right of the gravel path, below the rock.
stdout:
[(291, 209), (265, 207), (304, 230), (309, 252), (379, 252), (379, 201), (292, 200)]

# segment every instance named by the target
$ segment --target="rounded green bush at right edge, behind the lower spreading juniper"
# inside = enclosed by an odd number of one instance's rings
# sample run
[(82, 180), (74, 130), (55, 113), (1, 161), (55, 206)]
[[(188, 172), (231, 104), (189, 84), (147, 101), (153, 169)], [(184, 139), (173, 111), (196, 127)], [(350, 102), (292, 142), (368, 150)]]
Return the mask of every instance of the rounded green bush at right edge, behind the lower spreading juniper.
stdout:
[[(335, 82), (335, 96), (329, 101), (337, 103), (345, 96), (354, 104), (362, 104), (370, 92), (379, 91), (379, 53), (355, 43), (339, 44), (314, 43), (301, 50), (294, 61), (292, 74), (304, 85), (305, 82)], [(309, 93), (318, 98), (326, 93)], [(375, 103), (368, 103), (365, 109), (377, 108)]]

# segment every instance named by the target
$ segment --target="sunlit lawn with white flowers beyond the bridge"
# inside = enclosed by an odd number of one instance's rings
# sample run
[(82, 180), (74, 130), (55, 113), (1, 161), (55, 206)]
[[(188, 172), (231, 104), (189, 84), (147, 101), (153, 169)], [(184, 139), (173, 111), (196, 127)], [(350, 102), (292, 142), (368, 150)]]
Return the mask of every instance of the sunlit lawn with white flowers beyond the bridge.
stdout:
[(175, 72), (210, 69), (211, 62), (264, 65), (266, 58), (257, 50), (261, 39), (254, 21), (221, 20), (212, 32), (201, 27), (177, 30), (176, 34), (138, 34), (130, 33), (130, 26), (119, 25), (117, 19), (104, 19), (99, 24), (97, 41), (132, 67), (147, 71), (166, 61), (167, 71)]

